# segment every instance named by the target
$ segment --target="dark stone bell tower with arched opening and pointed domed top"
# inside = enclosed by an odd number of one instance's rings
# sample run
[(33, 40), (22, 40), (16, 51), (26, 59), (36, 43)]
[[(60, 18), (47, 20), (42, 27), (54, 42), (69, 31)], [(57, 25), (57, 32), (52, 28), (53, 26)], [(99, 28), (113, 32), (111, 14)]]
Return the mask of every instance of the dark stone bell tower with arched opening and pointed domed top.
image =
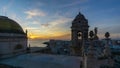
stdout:
[(88, 40), (88, 20), (83, 14), (79, 14), (72, 21), (71, 42), (74, 55), (82, 55), (82, 42)]

